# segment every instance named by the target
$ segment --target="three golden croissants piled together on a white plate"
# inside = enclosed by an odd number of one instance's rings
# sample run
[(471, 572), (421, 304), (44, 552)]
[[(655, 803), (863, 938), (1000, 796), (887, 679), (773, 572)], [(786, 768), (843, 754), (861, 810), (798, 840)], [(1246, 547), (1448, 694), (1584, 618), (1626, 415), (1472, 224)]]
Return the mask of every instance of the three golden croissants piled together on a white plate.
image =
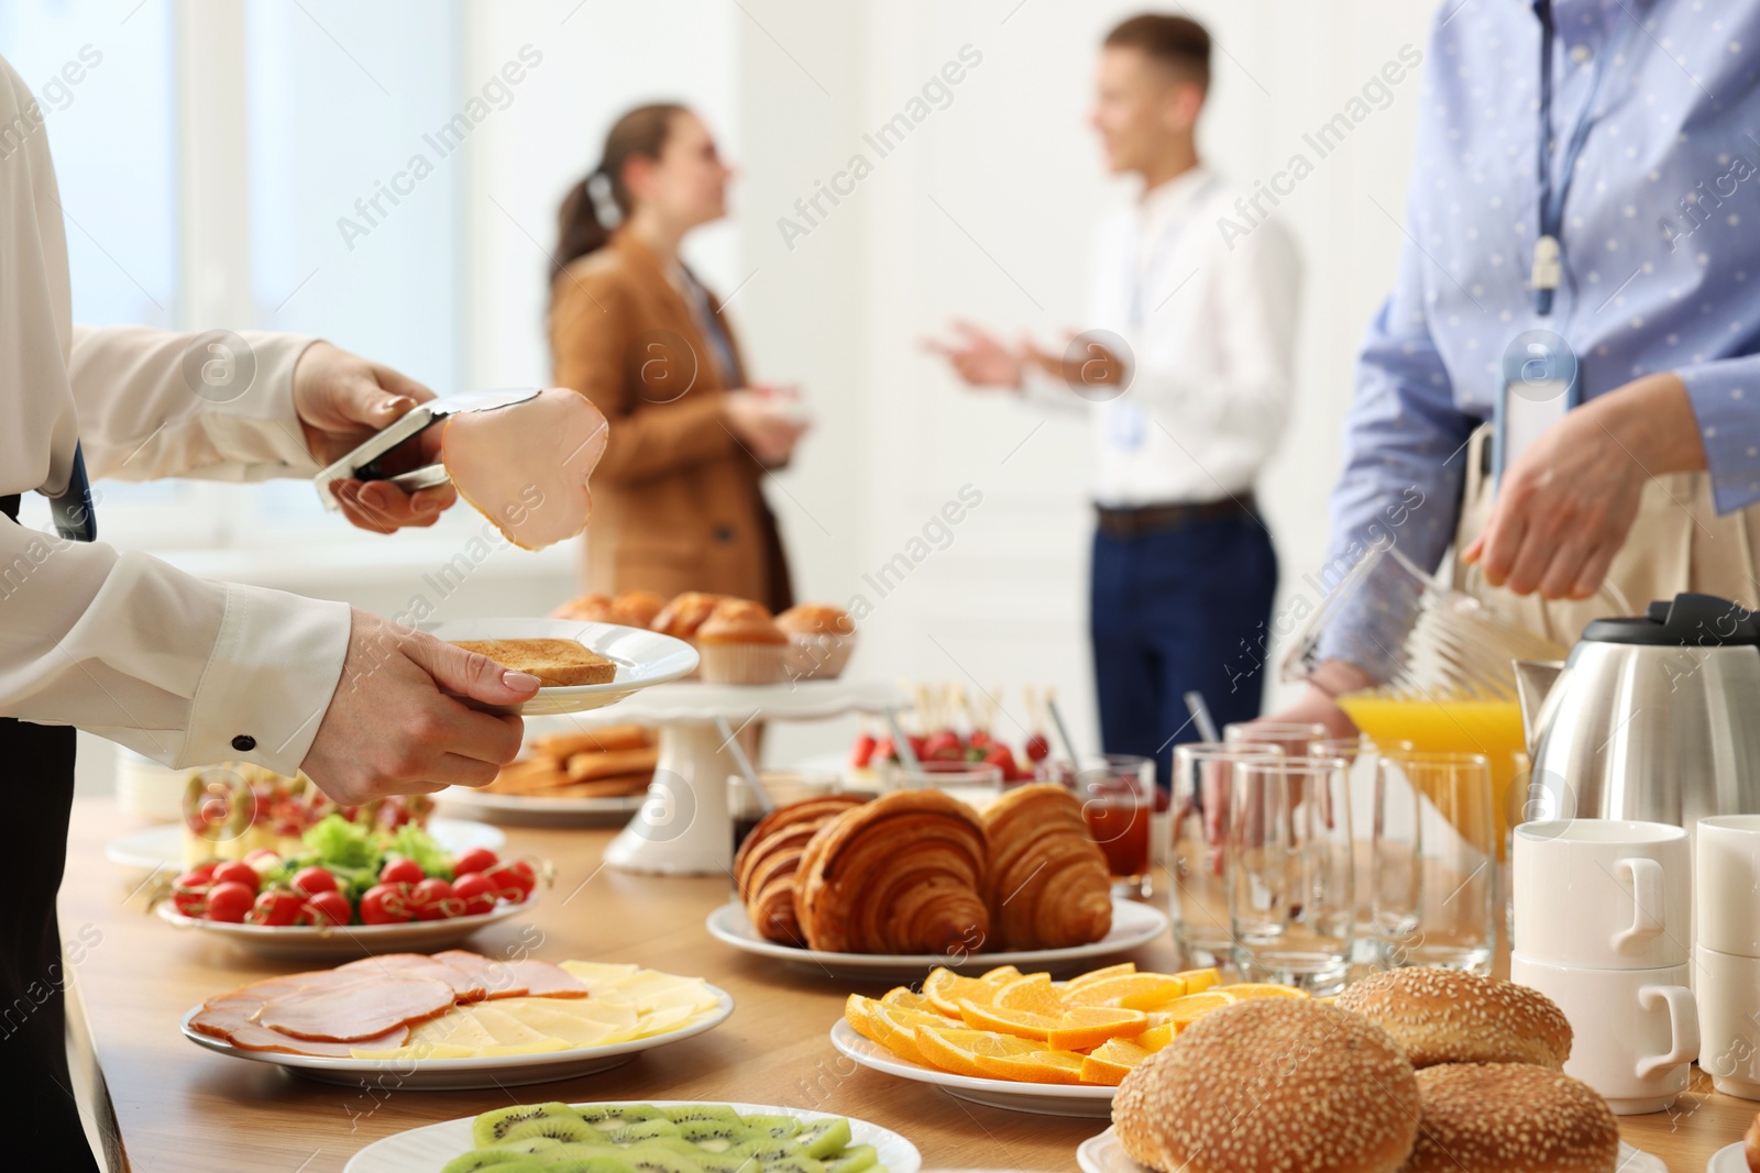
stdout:
[(734, 860), (746, 916), (829, 953), (984, 953), (1112, 930), (1105, 855), (1075, 795), (1019, 786), (982, 816), (938, 790), (778, 807)]

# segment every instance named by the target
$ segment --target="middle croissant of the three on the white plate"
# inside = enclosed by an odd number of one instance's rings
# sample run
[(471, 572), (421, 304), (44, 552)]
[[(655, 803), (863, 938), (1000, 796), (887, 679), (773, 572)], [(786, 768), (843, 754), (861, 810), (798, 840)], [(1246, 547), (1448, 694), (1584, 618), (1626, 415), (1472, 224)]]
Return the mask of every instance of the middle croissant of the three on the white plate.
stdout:
[(845, 811), (806, 844), (794, 911), (832, 953), (972, 953), (989, 937), (984, 827), (938, 790)]

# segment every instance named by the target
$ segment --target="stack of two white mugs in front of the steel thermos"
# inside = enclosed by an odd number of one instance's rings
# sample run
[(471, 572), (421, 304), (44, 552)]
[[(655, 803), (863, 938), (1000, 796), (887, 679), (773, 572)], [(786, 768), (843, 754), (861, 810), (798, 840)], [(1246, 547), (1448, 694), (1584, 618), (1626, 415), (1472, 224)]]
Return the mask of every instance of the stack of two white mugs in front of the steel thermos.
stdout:
[[(1700, 830), (1702, 851), (1704, 842)], [(1510, 978), (1565, 1011), (1575, 1036), (1565, 1073), (1619, 1115), (1674, 1104), (1698, 1057), (1691, 906), (1691, 849), (1679, 827), (1558, 820), (1515, 828)], [(1742, 960), (1760, 967), (1751, 958)]]

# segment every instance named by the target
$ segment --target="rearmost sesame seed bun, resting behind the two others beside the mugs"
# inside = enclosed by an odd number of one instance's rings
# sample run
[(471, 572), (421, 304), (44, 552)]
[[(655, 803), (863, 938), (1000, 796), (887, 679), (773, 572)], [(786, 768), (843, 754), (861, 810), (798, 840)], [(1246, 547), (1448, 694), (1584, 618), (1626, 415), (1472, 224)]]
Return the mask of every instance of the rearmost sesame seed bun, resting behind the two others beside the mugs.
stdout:
[(1501, 978), (1457, 969), (1390, 969), (1345, 988), (1334, 1002), (1375, 1022), (1413, 1067), (1440, 1062), (1529, 1062), (1559, 1071), (1570, 1022), (1552, 999)]

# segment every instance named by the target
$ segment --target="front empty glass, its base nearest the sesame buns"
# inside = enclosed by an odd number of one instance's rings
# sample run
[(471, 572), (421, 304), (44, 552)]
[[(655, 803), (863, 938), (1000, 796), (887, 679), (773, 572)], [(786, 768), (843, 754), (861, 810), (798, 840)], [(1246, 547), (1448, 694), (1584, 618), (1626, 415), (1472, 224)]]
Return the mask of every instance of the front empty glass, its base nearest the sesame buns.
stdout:
[(1309, 994), (1341, 990), (1357, 923), (1350, 763), (1236, 763), (1227, 872), (1241, 973)]

